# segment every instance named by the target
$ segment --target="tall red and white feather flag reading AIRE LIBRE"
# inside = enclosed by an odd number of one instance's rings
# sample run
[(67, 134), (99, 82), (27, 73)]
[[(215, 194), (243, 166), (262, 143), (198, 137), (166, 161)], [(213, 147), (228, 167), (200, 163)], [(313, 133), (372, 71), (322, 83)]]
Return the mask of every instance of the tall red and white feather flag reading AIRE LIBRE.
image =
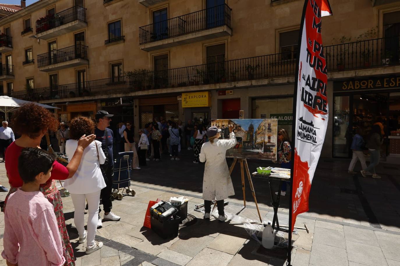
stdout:
[(328, 0), (306, 0), (300, 28), (292, 183), (292, 231), (308, 196), (328, 126), (328, 76), (322, 47), (321, 17), (332, 15)]

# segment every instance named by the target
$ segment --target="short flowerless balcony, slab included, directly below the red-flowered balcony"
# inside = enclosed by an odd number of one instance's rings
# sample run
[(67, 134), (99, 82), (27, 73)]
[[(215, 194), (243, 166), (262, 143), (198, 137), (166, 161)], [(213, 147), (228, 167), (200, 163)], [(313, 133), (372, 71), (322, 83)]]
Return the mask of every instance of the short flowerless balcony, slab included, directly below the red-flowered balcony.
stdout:
[(39, 70), (44, 72), (87, 65), (89, 64), (88, 47), (76, 44), (39, 54), (37, 64)]

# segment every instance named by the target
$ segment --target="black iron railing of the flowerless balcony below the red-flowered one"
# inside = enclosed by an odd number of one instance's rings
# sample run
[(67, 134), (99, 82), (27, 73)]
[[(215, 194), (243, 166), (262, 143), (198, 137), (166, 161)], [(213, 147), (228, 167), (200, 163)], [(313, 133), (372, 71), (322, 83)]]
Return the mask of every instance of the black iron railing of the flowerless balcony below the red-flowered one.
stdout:
[(79, 58), (88, 60), (88, 46), (75, 44), (66, 48), (39, 54), (37, 62), (38, 67), (44, 67)]

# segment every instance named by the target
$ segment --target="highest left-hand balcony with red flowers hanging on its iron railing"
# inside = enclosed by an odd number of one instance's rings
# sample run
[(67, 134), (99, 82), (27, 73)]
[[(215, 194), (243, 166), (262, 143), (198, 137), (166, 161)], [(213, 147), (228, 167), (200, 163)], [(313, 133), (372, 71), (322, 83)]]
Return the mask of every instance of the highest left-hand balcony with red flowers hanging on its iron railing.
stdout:
[(86, 26), (86, 8), (73, 6), (36, 20), (36, 37), (48, 40)]

